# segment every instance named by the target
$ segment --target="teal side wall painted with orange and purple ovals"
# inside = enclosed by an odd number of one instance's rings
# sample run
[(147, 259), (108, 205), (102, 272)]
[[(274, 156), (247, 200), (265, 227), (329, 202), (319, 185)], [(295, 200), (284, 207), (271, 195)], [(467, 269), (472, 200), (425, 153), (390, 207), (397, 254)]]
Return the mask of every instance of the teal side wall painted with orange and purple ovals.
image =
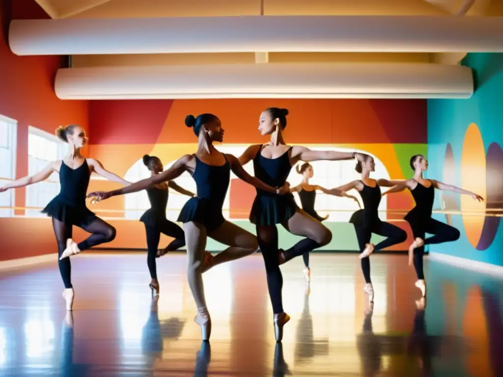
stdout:
[[(503, 266), (503, 54), (468, 54), (476, 91), (469, 100), (428, 101), (428, 177), (486, 198), (437, 193), (436, 215), (461, 231), (454, 243), (430, 251)], [(463, 214), (457, 214), (461, 211)]]

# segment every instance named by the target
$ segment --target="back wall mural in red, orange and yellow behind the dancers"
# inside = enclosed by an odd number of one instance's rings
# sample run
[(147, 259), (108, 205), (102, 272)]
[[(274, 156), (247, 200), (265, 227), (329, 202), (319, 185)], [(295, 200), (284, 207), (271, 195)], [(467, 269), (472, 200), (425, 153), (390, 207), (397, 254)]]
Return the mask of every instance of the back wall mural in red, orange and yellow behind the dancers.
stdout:
[[(168, 167), (182, 155), (194, 153), (197, 138), (185, 127), (184, 119), (187, 114), (209, 112), (221, 119), (225, 130), (224, 143), (218, 148), (238, 156), (248, 145), (268, 141), (257, 128), (260, 113), (271, 106), (290, 111), (285, 130), (288, 143), (314, 149), (365, 151), (376, 159), (375, 177), (408, 178), (412, 173), (408, 166), (410, 156), (426, 153), (426, 101), (422, 100), (177, 100), (91, 102), (90, 154), (128, 180), (142, 179), (149, 175), (141, 163), (143, 154), (158, 156)], [(325, 187), (358, 178), (354, 161), (314, 162), (313, 167), (311, 183)], [(253, 172), (251, 164), (245, 168)], [(292, 170), (290, 183), (297, 184), (300, 180), (301, 176)], [(188, 173), (177, 179), (177, 183), (195, 190)], [(110, 185), (103, 180), (93, 180), (90, 190), (108, 190)], [(167, 216), (176, 220), (188, 198), (173, 191), (170, 195)], [(227, 218), (253, 232), (248, 214), (254, 197), (254, 187), (234, 176), (224, 205)], [(381, 218), (396, 222), (409, 232), (408, 224), (400, 219), (412, 206), (409, 193), (390, 196), (382, 203)], [(92, 210), (109, 217), (117, 227), (117, 238), (108, 246), (144, 248), (144, 229), (137, 219), (148, 207), (146, 194), (139, 193), (112, 198), (93, 205)], [(322, 215), (329, 215), (325, 224), (334, 236), (324, 249), (357, 250), (354, 229), (348, 223), (351, 214), (358, 209), (356, 204), (319, 195), (316, 209)], [(283, 229), (280, 229), (280, 237), (285, 247), (297, 240)], [(220, 250), (223, 245), (209, 242), (207, 247)], [(394, 249), (405, 250), (406, 245), (397, 245)]]

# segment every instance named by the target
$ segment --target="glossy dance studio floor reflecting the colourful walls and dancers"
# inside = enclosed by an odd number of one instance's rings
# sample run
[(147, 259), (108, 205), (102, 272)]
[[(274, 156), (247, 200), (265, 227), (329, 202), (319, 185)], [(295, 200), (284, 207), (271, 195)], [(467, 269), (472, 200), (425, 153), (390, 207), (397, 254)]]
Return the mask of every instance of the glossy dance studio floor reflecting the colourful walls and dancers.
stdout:
[(310, 287), (301, 258), (282, 266), (292, 317), (282, 344), (259, 254), (204, 275), (213, 330), (203, 345), (183, 253), (158, 259), (156, 305), (144, 253), (73, 257), (66, 317), (56, 261), (2, 271), (0, 375), (503, 375), (501, 280), (426, 261), (424, 303), (405, 256), (374, 255), (373, 312), (356, 254), (312, 254)]

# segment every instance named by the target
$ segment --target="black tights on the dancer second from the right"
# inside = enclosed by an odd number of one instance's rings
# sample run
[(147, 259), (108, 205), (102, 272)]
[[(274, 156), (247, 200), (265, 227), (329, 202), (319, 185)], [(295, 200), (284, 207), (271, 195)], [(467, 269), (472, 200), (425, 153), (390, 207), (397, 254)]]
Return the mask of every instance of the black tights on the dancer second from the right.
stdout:
[[(370, 242), (372, 233), (388, 237), (375, 245), (375, 250), (382, 250), (386, 247), (396, 245), (397, 243), (405, 242), (405, 240), (407, 239), (407, 233), (403, 229), (400, 229), (396, 225), (386, 223), (384, 221), (377, 220), (367, 226), (362, 223), (354, 223), (353, 225), (355, 226), (356, 237), (358, 238), (358, 246), (360, 247), (360, 251), (363, 251), (363, 249), (365, 249), (365, 245)], [(362, 258), (361, 263), (365, 282), (369, 284), (372, 282), (370, 280), (369, 257), (367, 256), (365, 258)]]

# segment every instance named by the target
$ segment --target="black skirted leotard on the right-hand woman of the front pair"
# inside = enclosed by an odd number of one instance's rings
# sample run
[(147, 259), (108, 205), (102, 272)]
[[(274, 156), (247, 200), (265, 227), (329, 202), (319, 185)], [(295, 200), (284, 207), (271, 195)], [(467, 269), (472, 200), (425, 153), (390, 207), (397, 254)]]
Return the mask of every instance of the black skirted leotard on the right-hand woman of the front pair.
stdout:
[[(283, 186), (292, 169), (288, 157), (292, 148), (277, 158), (266, 158), (261, 154), (261, 145), (253, 160), (255, 176), (270, 186)], [(276, 195), (257, 189), (249, 220), (252, 224), (261, 226), (281, 224), (291, 218), (296, 210), (297, 205), (292, 194)]]

